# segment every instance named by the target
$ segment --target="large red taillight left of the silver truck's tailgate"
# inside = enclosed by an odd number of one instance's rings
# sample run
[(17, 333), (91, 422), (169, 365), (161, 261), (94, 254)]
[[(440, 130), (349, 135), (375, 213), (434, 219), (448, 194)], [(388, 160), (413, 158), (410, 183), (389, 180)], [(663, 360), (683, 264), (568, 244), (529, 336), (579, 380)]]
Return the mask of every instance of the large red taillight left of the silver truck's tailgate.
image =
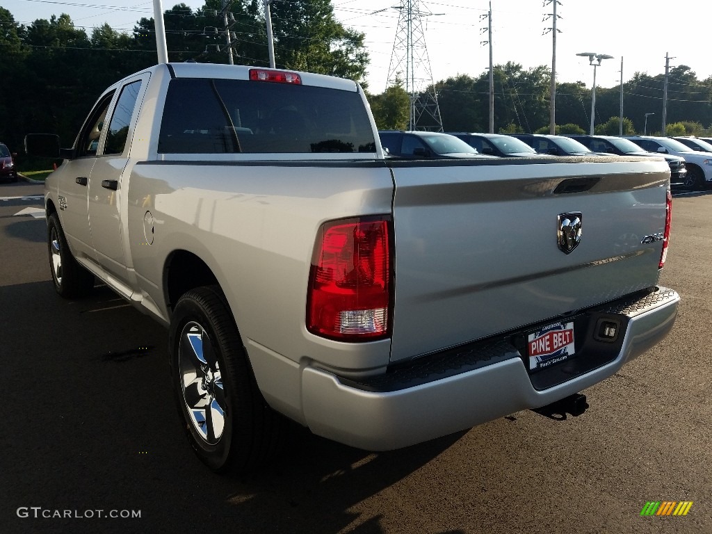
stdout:
[(387, 219), (323, 224), (309, 275), (307, 329), (339, 341), (390, 333), (392, 260)]

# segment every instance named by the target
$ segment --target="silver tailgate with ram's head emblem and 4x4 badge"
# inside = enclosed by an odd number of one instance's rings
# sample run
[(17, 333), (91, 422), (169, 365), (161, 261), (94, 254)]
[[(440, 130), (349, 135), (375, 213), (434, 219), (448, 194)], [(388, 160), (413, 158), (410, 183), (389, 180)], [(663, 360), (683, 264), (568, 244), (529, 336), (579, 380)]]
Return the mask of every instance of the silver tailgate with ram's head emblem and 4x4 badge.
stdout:
[[(658, 281), (662, 241), (642, 241), (664, 231), (664, 160), (394, 162), (392, 172), (392, 361)], [(558, 245), (562, 214), (581, 214), (569, 253)]]

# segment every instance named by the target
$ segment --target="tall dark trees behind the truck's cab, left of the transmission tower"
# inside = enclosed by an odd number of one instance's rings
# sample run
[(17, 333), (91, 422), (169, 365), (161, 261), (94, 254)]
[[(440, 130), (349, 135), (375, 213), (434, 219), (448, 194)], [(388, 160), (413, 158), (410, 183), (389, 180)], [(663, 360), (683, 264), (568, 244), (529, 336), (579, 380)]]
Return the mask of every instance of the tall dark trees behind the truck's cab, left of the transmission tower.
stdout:
[[(268, 66), (266, 23), (258, 0), (230, 4), (234, 63)], [(363, 80), (364, 34), (345, 28), (330, 0), (292, 0), (271, 6), (277, 66)], [(221, 0), (193, 11), (164, 11), (169, 61), (228, 63)], [(55, 132), (70, 145), (100, 93), (137, 70), (155, 65), (155, 23), (142, 18), (130, 33), (108, 23), (89, 33), (61, 14), (29, 25), (0, 7), (0, 141), (21, 152), (28, 132)]]

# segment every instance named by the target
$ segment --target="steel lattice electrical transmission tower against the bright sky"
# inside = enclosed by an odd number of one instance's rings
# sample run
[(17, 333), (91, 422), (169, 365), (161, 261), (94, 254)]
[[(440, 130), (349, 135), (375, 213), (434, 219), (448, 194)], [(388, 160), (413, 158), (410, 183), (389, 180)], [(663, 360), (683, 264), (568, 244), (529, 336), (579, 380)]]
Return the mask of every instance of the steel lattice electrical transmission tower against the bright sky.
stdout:
[[(409, 130), (443, 131), (438, 97), (430, 70), (418, 0), (403, 0), (386, 86), (405, 81), (410, 96)], [(426, 16), (433, 15), (426, 13)]]

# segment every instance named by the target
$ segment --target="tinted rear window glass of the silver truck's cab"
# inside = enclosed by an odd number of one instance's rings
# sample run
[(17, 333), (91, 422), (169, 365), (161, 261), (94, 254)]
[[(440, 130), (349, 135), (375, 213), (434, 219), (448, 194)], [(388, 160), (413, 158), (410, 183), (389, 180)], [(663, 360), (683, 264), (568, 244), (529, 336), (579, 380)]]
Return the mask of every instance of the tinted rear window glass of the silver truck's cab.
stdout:
[(247, 80), (171, 80), (158, 152), (375, 152), (358, 93)]

